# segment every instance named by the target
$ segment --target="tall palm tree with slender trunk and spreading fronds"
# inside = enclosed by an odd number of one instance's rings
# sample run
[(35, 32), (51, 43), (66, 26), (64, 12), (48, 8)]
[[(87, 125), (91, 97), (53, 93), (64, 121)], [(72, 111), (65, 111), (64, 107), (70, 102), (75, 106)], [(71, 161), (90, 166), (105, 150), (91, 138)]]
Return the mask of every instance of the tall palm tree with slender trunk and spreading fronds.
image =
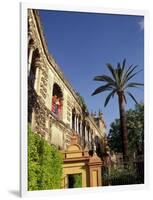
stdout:
[(95, 81), (105, 82), (105, 85), (98, 87), (93, 93), (96, 95), (101, 92), (110, 91), (106, 97), (104, 106), (106, 106), (110, 98), (114, 97), (115, 94), (118, 96), (119, 111), (120, 111), (120, 130), (122, 135), (122, 145), (123, 145), (123, 160), (126, 162), (128, 160), (128, 131), (126, 127), (126, 114), (125, 114), (125, 103), (126, 103), (126, 94), (129, 95), (134, 102), (137, 104), (135, 97), (128, 91), (129, 88), (143, 86), (142, 83), (130, 82), (131, 79), (140, 71), (135, 71), (136, 66), (129, 66), (128, 69), (125, 69), (126, 59), (123, 60), (123, 63), (117, 64), (117, 67), (114, 68), (111, 64), (106, 64), (107, 68), (111, 72), (111, 76), (101, 75), (94, 77)]

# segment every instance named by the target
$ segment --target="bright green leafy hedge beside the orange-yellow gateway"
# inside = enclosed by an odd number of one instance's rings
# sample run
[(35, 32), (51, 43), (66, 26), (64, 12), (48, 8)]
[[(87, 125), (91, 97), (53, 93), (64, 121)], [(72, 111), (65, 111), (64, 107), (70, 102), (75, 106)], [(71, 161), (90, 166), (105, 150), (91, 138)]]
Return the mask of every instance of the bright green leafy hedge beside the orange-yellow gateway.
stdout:
[(61, 177), (60, 152), (28, 127), (28, 190), (58, 189)]

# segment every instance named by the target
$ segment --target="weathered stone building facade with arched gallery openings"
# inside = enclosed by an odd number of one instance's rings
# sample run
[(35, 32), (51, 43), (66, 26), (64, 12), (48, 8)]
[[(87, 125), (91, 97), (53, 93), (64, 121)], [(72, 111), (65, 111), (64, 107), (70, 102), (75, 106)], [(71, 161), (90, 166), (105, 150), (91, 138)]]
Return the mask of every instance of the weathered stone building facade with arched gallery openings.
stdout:
[(102, 152), (106, 126), (101, 115), (89, 114), (81, 97), (48, 52), (39, 13), (28, 10), (28, 123), (60, 150), (72, 135), (83, 148)]

